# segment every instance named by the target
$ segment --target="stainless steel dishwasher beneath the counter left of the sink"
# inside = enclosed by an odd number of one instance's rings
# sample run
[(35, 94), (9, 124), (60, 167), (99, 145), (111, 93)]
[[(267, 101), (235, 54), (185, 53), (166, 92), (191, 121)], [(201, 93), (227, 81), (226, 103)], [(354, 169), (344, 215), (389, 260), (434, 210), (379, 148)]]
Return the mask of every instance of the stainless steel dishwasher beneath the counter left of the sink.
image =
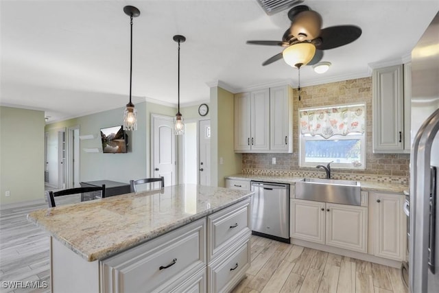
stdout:
[(289, 184), (251, 181), (252, 234), (289, 243)]

